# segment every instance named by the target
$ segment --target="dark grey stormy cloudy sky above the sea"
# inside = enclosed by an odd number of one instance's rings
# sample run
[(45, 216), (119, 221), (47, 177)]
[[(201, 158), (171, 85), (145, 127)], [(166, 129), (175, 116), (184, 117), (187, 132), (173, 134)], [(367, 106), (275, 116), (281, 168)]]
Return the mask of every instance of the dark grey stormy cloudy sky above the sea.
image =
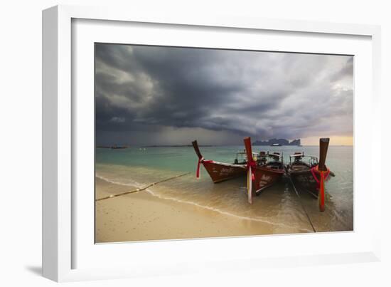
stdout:
[(96, 44), (95, 100), (98, 145), (333, 143), (353, 137), (353, 57)]

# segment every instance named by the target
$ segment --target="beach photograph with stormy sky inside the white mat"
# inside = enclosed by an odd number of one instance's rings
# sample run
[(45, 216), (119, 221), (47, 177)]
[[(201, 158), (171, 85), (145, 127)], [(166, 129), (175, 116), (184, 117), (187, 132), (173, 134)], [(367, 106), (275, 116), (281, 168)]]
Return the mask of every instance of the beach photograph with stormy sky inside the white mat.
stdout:
[(96, 243), (353, 231), (352, 55), (95, 43), (95, 142)]

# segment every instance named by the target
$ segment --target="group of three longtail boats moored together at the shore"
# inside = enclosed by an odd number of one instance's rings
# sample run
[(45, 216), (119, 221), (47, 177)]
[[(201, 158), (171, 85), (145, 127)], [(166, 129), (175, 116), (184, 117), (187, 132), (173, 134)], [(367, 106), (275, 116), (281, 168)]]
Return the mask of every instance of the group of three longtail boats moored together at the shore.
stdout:
[(245, 137), (245, 151), (237, 152), (232, 164), (205, 160), (201, 155), (197, 141), (193, 141), (198, 156), (196, 176), (200, 177), (200, 165), (205, 167), (214, 183), (223, 182), (247, 174), (247, 197), (252, 204), (253, 197), (262, 192), (282, 176), (289, 178), (294, 189), (309, 192), (318, 199), (321, 212), (325, 209), (325, 182), (334, 176), (326, 167), (326, 155), (329, 138), (319, 140), (319, 157), (294, 152), (289, 156), (289, 163), (284, 164), (282, 152), (252, 152), (250, 137)]

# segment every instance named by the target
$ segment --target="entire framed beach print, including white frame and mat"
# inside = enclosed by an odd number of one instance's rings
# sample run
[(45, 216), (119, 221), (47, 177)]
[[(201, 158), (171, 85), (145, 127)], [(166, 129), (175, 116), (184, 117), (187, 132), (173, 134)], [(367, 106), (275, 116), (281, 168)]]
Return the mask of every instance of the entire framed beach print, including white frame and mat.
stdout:
[(44, 276), (377, 260), (379, 35), (43, 11)]

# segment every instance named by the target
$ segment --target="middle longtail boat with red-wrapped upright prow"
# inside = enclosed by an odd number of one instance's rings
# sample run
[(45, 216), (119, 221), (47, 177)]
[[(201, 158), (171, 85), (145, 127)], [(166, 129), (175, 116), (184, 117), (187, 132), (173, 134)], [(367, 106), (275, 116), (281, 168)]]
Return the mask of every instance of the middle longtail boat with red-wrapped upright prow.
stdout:
[(247, 152), (247, 197), (252, 204), (252, 197), (272, 186), (285, 172), (282, 155), (279, 152), (259, 152), (259, 158), (252, 157), (251, 138), (245, 137)]

